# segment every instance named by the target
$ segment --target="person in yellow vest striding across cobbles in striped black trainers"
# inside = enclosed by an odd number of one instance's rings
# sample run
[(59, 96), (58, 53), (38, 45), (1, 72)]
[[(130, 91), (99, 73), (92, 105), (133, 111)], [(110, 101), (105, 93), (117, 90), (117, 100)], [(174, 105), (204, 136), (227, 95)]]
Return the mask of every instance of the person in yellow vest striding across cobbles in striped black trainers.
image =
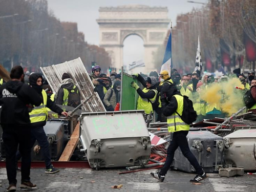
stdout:
[[(174, 153), (177, 148), (180, 147), (182, 154), (187, 158), (191, 165), (194, 166), (198, 174), (194, 179), (191, 179), (190, 182), (199, 182), (206, 179), (206, 174), (199, 165), (196, 157), (189, 150), (186, 138), (189, 131), (189, 125), (180, 117), (183, 113), (183, 96), (174, 85), (167, 83), (164, 84), (161, 92), (162, 112), (163, 115), (167, 117), (168, 132), (173, 133), (173, 138), (167, 149), (167, 158), (164, 167), (160, 172), (151, 173), (151, 176), (159, 181), (164, 181), (165, 174), (173, 162)], [(180, 116), (178, 114), (180, 114)]]

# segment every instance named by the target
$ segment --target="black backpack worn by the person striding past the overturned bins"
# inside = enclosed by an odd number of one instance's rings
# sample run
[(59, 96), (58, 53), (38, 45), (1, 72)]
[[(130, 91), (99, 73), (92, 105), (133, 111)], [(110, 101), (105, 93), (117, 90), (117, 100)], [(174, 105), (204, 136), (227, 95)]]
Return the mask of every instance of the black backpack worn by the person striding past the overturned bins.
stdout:
[(183, 96), (183, 112), (180, 115), (177, 111), (176, 113), (180, 116), (182, 121), (186, 124), (191, 124), (197, 120), (197, 112), (194, 110), (193, 102), (187, 97)]

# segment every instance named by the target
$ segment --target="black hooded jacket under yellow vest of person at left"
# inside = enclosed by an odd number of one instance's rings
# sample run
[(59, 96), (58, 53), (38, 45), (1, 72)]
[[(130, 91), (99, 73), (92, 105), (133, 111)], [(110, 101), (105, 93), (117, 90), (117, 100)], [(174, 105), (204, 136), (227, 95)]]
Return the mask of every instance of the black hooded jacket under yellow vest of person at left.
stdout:
[[(32, 76), (32, 78), (31, 78)], [(31, 84), (32, 88), (35, 89), (37, 92), (40, 92), (40, 96), (42, 97), (42, 86), (38, 86), (36, 84), (36, 80), (41, 77), (42, 75), (40, 73), (33, 73), (32, 75), (29, 76), (29, 84)], [(61, 113), (63, 112), (63, 110), (61, 108), (59, 108), (58, 105), (55, 104), (55, 102), (53, 102), (49, 96), (47, 96), (47, 104), (46, 106), (52, 110), (53, 112), (61, 115)], [(31, 123), (31, 127), (38, 127), (38, 126), (45, 126), (46, 125), (46, 120), (45, 121), (40, 121), (40, 122), (35, 122), (35, 123)]]

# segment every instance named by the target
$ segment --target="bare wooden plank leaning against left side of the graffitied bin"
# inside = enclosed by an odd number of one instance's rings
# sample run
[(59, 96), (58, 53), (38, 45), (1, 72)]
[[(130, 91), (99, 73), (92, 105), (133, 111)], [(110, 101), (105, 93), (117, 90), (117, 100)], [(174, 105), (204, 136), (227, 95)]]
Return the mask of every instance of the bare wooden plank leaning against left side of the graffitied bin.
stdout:
[(68, 144), (65, 147), (65, 150), (61, 154), (59, 161), (69, 161), (73, 152), (75, 151), (76, 145), (79, 141), (79, 131), (80, 131), (80, 123), (78, 122), (75, 130), (73, 131)]

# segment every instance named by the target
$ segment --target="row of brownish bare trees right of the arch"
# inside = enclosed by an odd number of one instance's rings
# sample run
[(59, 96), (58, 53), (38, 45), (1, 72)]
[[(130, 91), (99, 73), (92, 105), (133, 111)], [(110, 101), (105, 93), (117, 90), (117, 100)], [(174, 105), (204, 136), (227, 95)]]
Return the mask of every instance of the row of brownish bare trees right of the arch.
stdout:
[[(209, 0), (200, 9), (180, 14), (172, 29), (174, 68), (183, 73), (195, 68), (198, 36), (200, 36), (202, 62), (205, 70), (214, 72), (223, 66), (255, 70), (256, 61), (256, 1)], [(158, 69), (165, 46), (155, 53)]]

